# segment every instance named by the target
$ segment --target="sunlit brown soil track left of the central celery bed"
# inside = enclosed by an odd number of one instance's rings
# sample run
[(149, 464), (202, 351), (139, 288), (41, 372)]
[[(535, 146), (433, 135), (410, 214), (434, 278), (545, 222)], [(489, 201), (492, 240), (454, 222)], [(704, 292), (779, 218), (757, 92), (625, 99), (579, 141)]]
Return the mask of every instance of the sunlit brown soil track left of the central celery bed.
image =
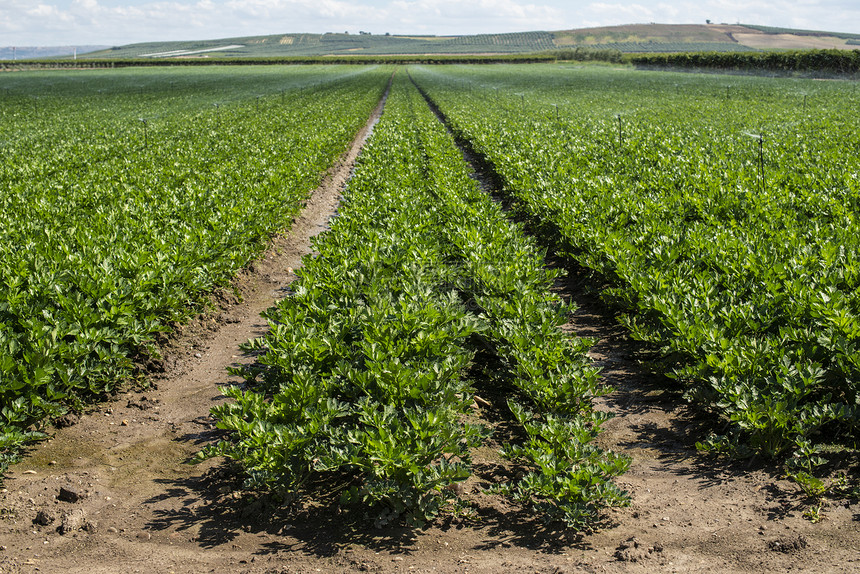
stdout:
[(184, 462), (217, 440), (209, 409), (224, 400), (219, 385), (240, 380), (227, 367), (253, 360), (239, 345), (265, 334), (260, 314), (288, 294), (311, 238), (336, 215), (387, 97), (388, 89), (289, 232), (237, 276), (235, 291), (213, 296), (215, 312), (163, 342), (165, 359), (147, 364), (150, 389), (75, 417), (10, 469), (0, 490), (0, 574), (236, 572), (278, 536), (248, 533), (250, 513), (233, 498), (225, 465)]

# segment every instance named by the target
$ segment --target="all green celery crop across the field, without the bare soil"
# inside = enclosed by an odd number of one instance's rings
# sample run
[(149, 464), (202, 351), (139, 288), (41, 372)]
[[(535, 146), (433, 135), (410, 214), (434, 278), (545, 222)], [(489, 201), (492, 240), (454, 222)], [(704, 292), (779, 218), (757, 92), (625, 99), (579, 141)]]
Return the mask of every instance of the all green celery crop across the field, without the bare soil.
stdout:
[[(702, 451), (810, 492), (856, 480), (854, 83), (569, 64), (0, 76), (0, 463), (288, 232), (384, 93), (198, 462), (419, 526), (459, 508), (493, 441), (512, 469), (494, 495), (588, 530), (629, 503), (630, 460), (599, 446), (593, 341), (562, 328), (554, 286), (576, 273), (709, 420)], [(499, 436), (474, 415), (487, 396)]]

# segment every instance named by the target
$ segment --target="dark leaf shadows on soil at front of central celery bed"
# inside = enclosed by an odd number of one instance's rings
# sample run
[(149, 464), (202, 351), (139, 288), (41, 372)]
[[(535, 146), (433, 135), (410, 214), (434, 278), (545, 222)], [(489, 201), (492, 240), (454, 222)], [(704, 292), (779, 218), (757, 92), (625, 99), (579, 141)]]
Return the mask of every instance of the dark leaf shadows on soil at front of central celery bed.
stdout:
[[(499, 473), (504, 475), (506, 470), (493, 465), (476, 468), (482, 480)], [(313, 485), (313, 493), (306, 497), (312, 502), (281, 505), (268, 496), (243, 492), (238, 477), (236, 469), (224, 463), (199, 476), (159, 481), (165, 491), (145, 504), (158, 507), (170, 501), (169, 508), (156, 508), (155, 518), (146, 529), (183, 532), (193, 528), (197, 532), (194, 541), (202, 548), (234, 542), (243, 533), (267, 533), (278, 538), (263, 542), (257, 554), (300, 552), (320, 558), (335, 556), (354, 545), (408, 556), (418, 549), (425, 534), (461, 529), (481, 533), (482, 542), (475, 550), (517, 546), (554, 554), (571, 548), (591, 548), (581, 534), (560, 524), (543, 524), (533, 511), (483, 493), (467, 496), (475, 510), (468, 518), (447, 514), (425, 528), (379, 528), (360, 511), (342, 509), (338, 505), (339, 493), (326, 491), (325, 485)], [(613, 523), (605, 519), (595, 526), (609, 528)]]

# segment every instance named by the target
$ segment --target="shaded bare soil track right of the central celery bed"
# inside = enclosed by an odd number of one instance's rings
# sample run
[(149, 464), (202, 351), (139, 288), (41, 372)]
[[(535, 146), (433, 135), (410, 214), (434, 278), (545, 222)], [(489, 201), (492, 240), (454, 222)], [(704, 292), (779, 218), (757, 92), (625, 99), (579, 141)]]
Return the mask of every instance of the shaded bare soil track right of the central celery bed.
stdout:
[[(410, 77), (411, 79), (411, 77)], [(568, 272), (555, 286), (577, 310), (562, 329), (595, 341), (589, 355), (614, 388), (595, 402), (615, 416), (598, 443), (631, 457), (616, 482), (632, 496), (628, 508), (608, 509), (597, 532), (571, 545), (577, 571), (591, 572), (848, 572), (860, 569), (860, 504), (836, 501), (829, 521), (802, 518), (798, 489), (765, 464), (715, 460), (695, 442), (710, 428), (683, 400), (680, 387), (654, 374), (657, 353), (631, 340), (597, 292), (588, 270), (559, 256), (546, 230), (534, 229), (503, 178), (471, 143), (452, 130), (432, 98), (414, 81), (437, 119), (457, 141), (474, 178), (526, 231), (548, 245), (547, 264)]]

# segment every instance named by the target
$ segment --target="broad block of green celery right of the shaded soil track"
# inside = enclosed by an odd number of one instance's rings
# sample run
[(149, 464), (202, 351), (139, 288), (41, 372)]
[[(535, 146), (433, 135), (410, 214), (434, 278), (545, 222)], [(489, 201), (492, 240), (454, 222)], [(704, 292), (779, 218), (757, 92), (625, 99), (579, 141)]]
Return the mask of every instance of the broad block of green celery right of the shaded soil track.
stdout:
[(793, 460), (860, 420), (850, 86), (532, 67), (413, 70), (458, 135), (662, 347), (728, 432)]

